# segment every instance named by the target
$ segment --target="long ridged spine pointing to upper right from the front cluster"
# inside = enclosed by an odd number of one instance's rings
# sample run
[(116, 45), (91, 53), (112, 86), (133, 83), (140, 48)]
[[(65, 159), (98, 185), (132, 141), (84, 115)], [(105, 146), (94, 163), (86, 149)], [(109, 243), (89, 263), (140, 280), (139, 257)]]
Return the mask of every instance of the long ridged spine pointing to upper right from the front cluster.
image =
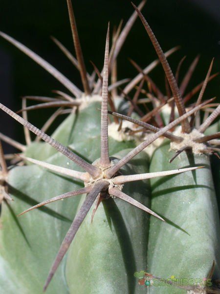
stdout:
[[(210, 100), (209, 100), (210, 101)], [(171, 128), (173, 128), (174, 126), (176, 126), (178, 123), (180, 123), (182, 120), (185, 120), (186, 118), (188, 118), (190, 115), (192, 115), (195, 111), (197, 111), (198, 109), (200, 109), (202, 106), (204, 106), (205, 104), (207, 104), (208, 101), (200, 104), (199, 106), (193, 108), (192, 110), (188, 111), (187, 113), (185, 113), (184, 115), (182, 115), (181, 117), (177, 118), (175, 121), (173, 121), (172, 123), (169, 123), (168, 125), (166, 125), (165, 127), (163, 127), (162, 129), (160, 129), (158, 132), (156, 132), (155, 134), (153, 134), (152, 136), (150, 136), (146, 141), (142, 142), (140, 145), (138, 145), (137, 147), (135, 147), (131, 152), (129, 152), (126, 156), (124, 156), (121, 160), (119, 160), (118, 163), (116, 163), (113, 167), (111, 167), (109, 170), (107, 170), (106, 173), (106, 177), (110, 178), (113, 174), (115, 174), (122, 166), (124, 166), (127, 162), (129, 162), (135, 155), (137, 155), (140, 151), (142, 151), (143, 149), (145, 149), (148, 145), (150, 145), (152, 142), (154, 142), (157, 138), (159, 138), (160, 136), (163, 136), (167, 131), (169, 131)]]

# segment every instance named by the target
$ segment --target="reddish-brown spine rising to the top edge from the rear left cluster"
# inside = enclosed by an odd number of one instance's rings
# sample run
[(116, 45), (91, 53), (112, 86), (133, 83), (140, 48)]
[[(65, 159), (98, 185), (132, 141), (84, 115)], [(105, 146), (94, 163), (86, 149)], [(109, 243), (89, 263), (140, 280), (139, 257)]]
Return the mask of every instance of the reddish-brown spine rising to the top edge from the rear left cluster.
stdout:
[(79, 71), (80, 71), (80, 75), (81, 75), (81, 79), (83, 83), (83, 88), (86, 95), (90, 95), (91, 91), (88, 85), (87, 71), (86, 71), (86, 67), (84, 63), (83, 52), (80, 45), (80, 40), (79, 40), (79, 35), (77, 31), (76, 20), (75, 20), (71, 0), (67, 0), (67, 7), (68, 7), (68, 13), (69, 13), (70, 26), (72, 30), (73, 43), (74, 43), (74, 48), (76, 51), (77, 61), (79, 64)]

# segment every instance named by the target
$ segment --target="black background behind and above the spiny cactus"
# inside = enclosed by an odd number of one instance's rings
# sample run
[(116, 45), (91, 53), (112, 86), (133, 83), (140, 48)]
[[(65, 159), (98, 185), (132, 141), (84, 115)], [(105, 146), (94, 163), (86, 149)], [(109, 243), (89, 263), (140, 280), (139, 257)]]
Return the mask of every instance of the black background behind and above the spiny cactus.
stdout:
[[(134, 3), (138, 4), (139, 1)], [(124, 19), (125, 24), (133, 12), (133, 7), (129, 0), (73, 0), (73, 7), (87, 70), (89, 73), (92, 72), (89, 60), (101, 70), (108, 21), (111, 30), (121, 19)], [(142, 12), (164, 51), (176, 45), (181, 46), (181, 49), (169, 58), (174, 71), (179, 60), (187, 55), (180, 77), (196, 55), (201, 54), (188, 89), (204, 79), (212, 57), (215, 57), (212, 73), (220, 70), (219, 0), (148, 0)], [(55, 36), (74, 53), (66, 0), (1, 0), (0, 30), (38, 53), (82, 88), (79, 73), (50, 40), (50, 35)], [(128, 57), (142, 67), (156, 58), (153, 46), (139, 19), (135, 22), (119, 55), (119, 79), (133, 77), (137, 73)], [(164, 90), (164, 73), (161, 66), (157, 67), (151, 76)], [(53, 89), (66, 91), (55, 78), (19, 49), (0, 39), (0, 102), (13, 110), (18, 110), (21, 108), (21, 96), (50, 96)], [(210, 82), (204, 98), (213, 96), (220, 96), (219, 76)], [(31, 112), (30, 121), (42, 126), (48, 113), (51, 112)], [(0, 132), (24, 142), (22, 127), (2, 112)]]

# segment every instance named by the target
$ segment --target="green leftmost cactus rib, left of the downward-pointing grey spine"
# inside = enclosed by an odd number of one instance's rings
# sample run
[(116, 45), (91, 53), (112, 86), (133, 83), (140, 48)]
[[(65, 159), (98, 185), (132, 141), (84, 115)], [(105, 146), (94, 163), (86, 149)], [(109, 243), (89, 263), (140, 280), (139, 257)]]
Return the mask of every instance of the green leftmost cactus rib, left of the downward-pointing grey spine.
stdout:
[[(53, 159), (52, 162), (57, 161)], [(29, 185), (30, 181), (33, 185)], [(54, 193), (62, 194), (81, 186), (33, 165), (13, 169), (8, 182), (15, 203), (2, 202), (1, 207), (0, 267), (4, 269), (0, 271), (1, 293), (39, 294), (74, 217), (79, 196), (62, 201), (60, 205), (54, 203), (44, 207), (27, 218), (17, 215), (30, 205), (53, 197)], [(68, 293), (62, 267), (48, 293)]]

